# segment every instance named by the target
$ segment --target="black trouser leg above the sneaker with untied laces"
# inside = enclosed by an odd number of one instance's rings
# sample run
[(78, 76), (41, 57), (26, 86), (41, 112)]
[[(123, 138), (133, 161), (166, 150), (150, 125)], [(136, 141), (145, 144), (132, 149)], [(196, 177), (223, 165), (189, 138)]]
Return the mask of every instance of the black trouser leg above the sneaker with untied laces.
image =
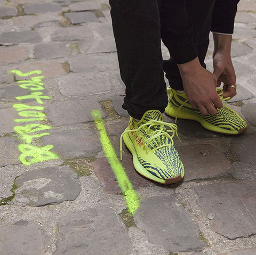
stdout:
[(147, 110), (167, 105), (161, 52), (161, 0), (110, 0), (121, 78), (123, 108), (140, 119)]

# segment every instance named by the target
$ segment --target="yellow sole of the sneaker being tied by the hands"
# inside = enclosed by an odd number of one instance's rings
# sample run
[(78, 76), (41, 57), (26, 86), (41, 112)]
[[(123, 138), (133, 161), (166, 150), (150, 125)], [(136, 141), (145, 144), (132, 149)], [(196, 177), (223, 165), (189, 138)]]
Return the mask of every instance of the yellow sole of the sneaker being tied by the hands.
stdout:
[[(165, 113), (168, 114), (169, 116), (175, 118), (177, 116), (178, 109), (179, 108), (177, 108), (175, 106), (171, 106), (170, 103), (168, 103), (167, 107), (165, 108)], [(230, 110), (235, 112), (233, 109), (230, 109)], [(239, 118), (241, 118), (241, 117), (239, 117)], [(247, 130), (247, 126), (244, 128), (241, 128), (238, 131), (226, 130), (226, 129), (223, 129), (220, 127), (216, 127), (216, 126), (210, 124), (209, 122), (207, 122), (206, 120), (204, 120), (203, 118), (199, 117), (197, 113), (191, 112), (185, 108), (180, 109), (179, 114), (178, 114), (178, 119), (195, 120), (195, 121), (199, 122), (201, 124), (201, 126), (204, 127), (205, 129), (215, 132), (215, 133), (224, 134), (224, 135), (239, 135), (239, 134), (244, 133)]]

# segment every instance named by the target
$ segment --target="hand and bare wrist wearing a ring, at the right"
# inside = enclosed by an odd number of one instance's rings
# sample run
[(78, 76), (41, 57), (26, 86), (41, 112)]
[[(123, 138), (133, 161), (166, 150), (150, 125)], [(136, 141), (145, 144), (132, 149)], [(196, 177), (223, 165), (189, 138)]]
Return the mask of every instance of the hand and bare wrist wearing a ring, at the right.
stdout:
[(236, 84), (236, 73), (231, 60), (231, 35), (213, 34), (214, 52), (213, 52), (213, 73), (217, 76), (217, 86), (223, 83), (223, 97), (234, 97), (236, 90), (228, 85)]

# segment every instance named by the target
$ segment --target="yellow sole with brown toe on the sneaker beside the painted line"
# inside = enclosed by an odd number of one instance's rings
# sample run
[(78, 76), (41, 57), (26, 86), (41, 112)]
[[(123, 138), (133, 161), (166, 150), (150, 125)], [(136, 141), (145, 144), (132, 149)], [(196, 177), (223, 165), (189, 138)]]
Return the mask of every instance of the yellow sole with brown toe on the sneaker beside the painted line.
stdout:
[(149, 180), (154, 180), (154, 182), (159, 183), (159, 184), (163, 184), (163, 185), (178, 183), (184, 177), (182, 175), (178, 175), (176, 177), (167, 178), (167, 179), (164, 180), (164, 179), (158, 178), (158, 177), (150, 174), (150, 172), (140, 164), (137, 152), (136, 152), (135, 147), (134, 147), (134, 145), (133, 145), (133, 143), (132, 143), (132, 141), (129, 137), (129, 134), (124, 135), (124, 143), (125, 143), (126, 147), (129, 149), (129, 151), (132, 153), (133, 166), (134, 166), (135, 170), (141, 176), (143, 176), (143, 177), (145, 177)]

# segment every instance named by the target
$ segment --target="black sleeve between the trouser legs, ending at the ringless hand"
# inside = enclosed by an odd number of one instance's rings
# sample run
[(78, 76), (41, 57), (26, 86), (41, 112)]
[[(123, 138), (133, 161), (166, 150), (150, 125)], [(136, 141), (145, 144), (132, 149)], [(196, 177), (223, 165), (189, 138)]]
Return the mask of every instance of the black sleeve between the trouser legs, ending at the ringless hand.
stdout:
[(197, 57), (186, 0), (162, 0), (161, 34), (175, 63), (187, 63)]

